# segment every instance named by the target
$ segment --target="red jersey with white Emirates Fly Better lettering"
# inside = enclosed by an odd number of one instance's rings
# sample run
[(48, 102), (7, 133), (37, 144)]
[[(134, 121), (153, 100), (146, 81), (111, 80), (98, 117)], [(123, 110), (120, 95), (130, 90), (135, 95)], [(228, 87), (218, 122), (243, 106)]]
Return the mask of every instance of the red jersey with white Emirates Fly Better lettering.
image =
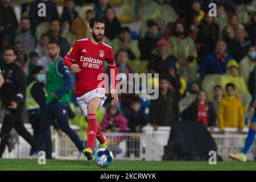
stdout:
[[(93, 44), (90, 38), (77, 40), (69, 49), (64, 58), (64, 64), (71, 67), (73, 63), (78, 64), (81, 71), (76, 73), (76, 97), (81, 97), (87, 92), (96, 88), (104, 87), (104, 79), (98, 79), (98, 75), (103, 73), (104, 62), (107, 62), (110, 68), (114, 69), (115, 78), (117, 67), (114, 62), (114, 53), (112, 47), (104, 42)], [(114, 81), (116, 87), (117, 82)]]

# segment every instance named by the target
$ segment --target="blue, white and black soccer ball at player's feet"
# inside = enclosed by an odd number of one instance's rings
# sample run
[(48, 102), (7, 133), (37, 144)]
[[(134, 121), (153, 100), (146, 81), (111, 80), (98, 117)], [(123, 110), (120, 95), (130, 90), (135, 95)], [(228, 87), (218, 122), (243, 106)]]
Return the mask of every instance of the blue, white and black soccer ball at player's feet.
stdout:
[(108, 148), (100, 148), (93, 156), (93, 161), (98, 167), (108, 167), (113, 163), (114, 156)]

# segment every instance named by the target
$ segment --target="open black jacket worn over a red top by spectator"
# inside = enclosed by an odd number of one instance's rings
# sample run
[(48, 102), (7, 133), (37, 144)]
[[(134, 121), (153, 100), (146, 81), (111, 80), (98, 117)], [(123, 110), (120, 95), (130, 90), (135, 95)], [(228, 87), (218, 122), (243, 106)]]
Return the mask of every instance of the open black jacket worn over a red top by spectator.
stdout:
[[(194, 101), (186, 110), (185, 121), (197, 122), (197, 114), (198, 114), (198, 106), (196, 104), (196, 101)], [(208, 126), (216, 125), (216, 113), (215, 113), (212, 102), (209, 102), (207, 118), (208, 118)]]

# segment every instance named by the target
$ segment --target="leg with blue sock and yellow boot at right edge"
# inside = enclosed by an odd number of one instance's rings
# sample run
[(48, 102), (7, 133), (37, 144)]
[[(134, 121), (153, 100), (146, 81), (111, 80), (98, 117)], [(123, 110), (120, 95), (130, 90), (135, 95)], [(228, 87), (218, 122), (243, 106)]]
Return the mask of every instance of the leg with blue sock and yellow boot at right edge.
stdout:
[(254, 142), (256, 135), (256, 114), (254, 114), (253, 119), (251, 119), (249, 133), (247, 134), (247, 138), (245, 140), (245, 146), (243, 147), (243, 151), (238, 154), (229, 154), (229, 157), (232, 159), (240, 160), (241, 162), (246, 162), (247, 152), (249, 151), (251, 145)]

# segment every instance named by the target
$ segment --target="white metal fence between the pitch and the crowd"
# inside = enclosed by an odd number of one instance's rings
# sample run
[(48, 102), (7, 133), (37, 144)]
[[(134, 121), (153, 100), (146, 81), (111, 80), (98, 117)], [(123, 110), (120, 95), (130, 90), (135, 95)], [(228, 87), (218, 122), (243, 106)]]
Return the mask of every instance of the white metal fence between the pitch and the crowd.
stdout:
[[(32, 130), (27, 126), (28, 131)], [(74, 128), (74, 127), (73, 127)], [(75, 127), (75, 129), (77, 129)], [(164, 146), (167, 145), (170, 136), (170, 127), (159, 127), (154, 131), (151, 126), (146, 126), (143, 133), (105, 133), (108, 139), (108, 148), (113, 152), (114, 158), (118, 160), (162, 160)], [(230, 160), (230, 152), (241, 152), (247, 136), (247, 130), (243, 134), (236, 134), (236, 129), (226, 129), (225, 135), (218, 133), (216, 129), (212, 133), (218, 147), (218, 155), (223, 160)], [(86, 146), (86, 133), (78, 133), (83, 145)], [(94, 150), (99, 148), (96, 141)], [(10, 154), (5, 151), (3, 158), (28, 158), (30, 146), (23, 138), (16, 139), (15, 150)], [(52, 156), (56, 159), (78, 159), (80, 152), (67, 135), (58, 135), (52, 132)], [(248, 153), (248, 160), (254, 160), (256, 156), (256, 144), (254, 143)]]

